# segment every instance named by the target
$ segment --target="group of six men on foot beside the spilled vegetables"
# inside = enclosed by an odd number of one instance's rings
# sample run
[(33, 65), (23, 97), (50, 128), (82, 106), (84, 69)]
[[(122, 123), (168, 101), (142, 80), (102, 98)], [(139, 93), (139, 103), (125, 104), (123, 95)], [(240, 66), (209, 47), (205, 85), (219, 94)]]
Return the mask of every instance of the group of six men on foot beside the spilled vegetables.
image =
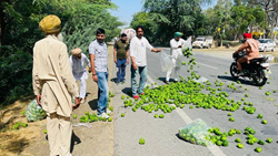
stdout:
[[(89, 44), (90, 60), (77, 48), (68, 55), (67, 45), (61, 37), (61, 21), (57, 15), (47, 15), (39, 23), (40, 30), (46, 38), (36, 42), (33, 48), (33, 92), (37, 102), (48, 114), (47, 132), (51, 156), (71, 156), (70, 141), (72, 134), (71, 114), (86, 101), (86, 80), (92, 73), (92, 80), (98, 84), (98, 116), (108, 118), (107, 110), (109, 96), (108, 89), (108, 49), (105, 43), (106, 31), (98, 29), (96, 40)], [(136, 28), (137, 35), (127, 42), (127, 34), (122, 33), (119, 41), (115, 43), (113, 60), (117, 72), (117, 83), (125, 82), (126, 66), (131, 59), (131, 90), (132, 97), (139, 98), (143, 95), (147, 82), (147, 50), (161, 52), (155, 49), (143, 37), (143, 27)], [(175, 34), (171, 41), (172, 55), (181, 53), (181, 33)], [(173, 61), (177, 58), (173, 58)], [(89, 67), (89, 73), (86, 65)], [(176, 70), (177, 73), (178, 70)], [(169, 71), (167, 81), (169, 81)], [(137, 89), (137, 76), (140, 75)], [(80, 81), (80, 93), (76, 81)], [(177, 81), (177, 80), (176, 80)], [(75, 104), (72, 98), (75, 96)]]

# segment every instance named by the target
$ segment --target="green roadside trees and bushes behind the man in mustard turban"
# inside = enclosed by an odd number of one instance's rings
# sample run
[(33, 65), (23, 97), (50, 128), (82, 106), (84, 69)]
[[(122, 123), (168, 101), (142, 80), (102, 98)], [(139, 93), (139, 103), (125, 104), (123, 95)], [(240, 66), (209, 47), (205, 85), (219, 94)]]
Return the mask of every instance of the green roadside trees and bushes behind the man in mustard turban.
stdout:
[(39, 21), (57, 14), (69, 50), (88, 52), (96, 30), (103, 28), (107, 41), (118, 35), (123, 23), (109, 13), (111, 0), (2, 0), (0, 6), (0, 104), (32, 94), (32, 48), (43, 38)]

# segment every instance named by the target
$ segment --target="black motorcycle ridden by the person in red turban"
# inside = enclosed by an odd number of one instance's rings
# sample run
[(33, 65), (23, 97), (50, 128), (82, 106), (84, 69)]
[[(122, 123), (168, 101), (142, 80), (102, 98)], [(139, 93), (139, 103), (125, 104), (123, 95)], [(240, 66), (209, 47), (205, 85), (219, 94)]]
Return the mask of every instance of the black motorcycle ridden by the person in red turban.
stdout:
[(230, 74), (234, 79), (238, 79), (239, 76), (242, 77), (249, 77), (250, 80), (254, 81), (254, 83), (257, 86), (262, 86), (266, 84), (267, 80), (268, 80), (268, 75), (271, 73), (270, 69), (269, 69), (269, 63), (268, 58), (256, 58), (250, 60), (250, 63), (242, 63), (242, 73), (239, 75), (239, 70), (237, 67), (237, 61), (245, 56), (246, 53), (245, 52), (239, 52), (236, 54), (232, 54), (234, 58), (234, 62), (230, 64)]

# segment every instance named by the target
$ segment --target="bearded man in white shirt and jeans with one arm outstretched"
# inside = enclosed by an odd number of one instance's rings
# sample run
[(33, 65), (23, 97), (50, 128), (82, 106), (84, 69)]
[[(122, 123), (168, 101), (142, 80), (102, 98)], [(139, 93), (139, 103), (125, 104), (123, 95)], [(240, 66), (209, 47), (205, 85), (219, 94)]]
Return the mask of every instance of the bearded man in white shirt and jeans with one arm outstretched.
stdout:
[[(133, 98), (139, 98), (138, 93), (143, 95), (143, 87), (147, 82), (147, 56), (146, 51), (160, 52), (161, 49), (155, 49), (149, 41), (143, 38), (143, 27), (136, 28), (137, 37), (132, 38), (130, 42), (130, 58), (131, 58), (131, 90)], [(137, 93), (137, 75), (140, 74), (140, 83)]]

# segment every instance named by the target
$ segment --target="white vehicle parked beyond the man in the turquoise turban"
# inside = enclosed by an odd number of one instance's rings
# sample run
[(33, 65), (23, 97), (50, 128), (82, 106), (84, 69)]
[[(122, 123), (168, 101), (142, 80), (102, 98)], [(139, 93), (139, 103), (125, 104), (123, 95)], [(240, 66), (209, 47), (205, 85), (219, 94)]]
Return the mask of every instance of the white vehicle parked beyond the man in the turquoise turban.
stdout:
[(192, 43), (192, 48), (211, 48), (214, 38), (211, 35), (199, 35)]

